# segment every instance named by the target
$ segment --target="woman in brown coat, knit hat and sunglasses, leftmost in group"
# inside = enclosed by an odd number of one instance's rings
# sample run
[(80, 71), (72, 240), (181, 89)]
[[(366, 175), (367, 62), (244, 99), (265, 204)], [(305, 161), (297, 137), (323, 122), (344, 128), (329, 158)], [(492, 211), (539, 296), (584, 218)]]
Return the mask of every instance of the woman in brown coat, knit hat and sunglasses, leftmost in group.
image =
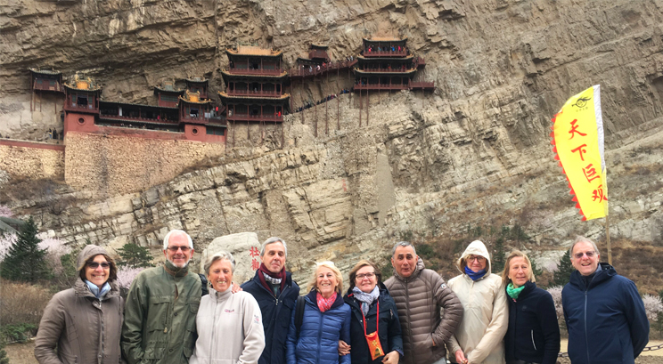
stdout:
[(83, 248), (74, 287), (53, 295), (39, 322), (39, 364), (119, 363), (124, 303), (117, 272), (102, 247)]

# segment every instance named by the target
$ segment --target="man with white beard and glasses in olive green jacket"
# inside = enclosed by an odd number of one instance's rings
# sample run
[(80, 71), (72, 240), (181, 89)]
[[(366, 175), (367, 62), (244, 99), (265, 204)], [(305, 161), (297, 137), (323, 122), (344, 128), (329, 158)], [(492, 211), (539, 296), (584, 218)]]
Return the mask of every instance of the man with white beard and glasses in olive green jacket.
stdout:
[(125, 304), (122, 352), (129, 364), (188, 363), (196, 342), (201, 278), (188, 271), (193, 242), (181, 230), (163, 239), (166, 261), (141, 271)]

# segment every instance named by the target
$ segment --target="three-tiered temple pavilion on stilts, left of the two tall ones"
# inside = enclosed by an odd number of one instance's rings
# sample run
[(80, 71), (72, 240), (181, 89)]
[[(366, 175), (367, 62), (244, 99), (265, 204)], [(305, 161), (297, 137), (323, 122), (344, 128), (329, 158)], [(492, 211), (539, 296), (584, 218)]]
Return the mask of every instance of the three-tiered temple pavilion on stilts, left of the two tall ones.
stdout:
[(290, 94), (283, 92), (288, 73), (282, 68), (282, 52), (238, 46), (225, 53), (230, 67), (221, 71), (225, 91), (218, 94), (227, 122), (233, 126), (246, 123), (247, 133), (251, 124), (282, 123), (290, 99)]

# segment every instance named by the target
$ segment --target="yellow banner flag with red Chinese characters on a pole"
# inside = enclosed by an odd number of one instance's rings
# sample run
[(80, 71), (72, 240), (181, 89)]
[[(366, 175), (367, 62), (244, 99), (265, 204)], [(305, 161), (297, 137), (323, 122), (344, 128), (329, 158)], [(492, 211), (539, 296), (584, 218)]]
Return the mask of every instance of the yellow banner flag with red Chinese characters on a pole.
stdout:
[(567, 180), (583, 221), (608, 214), (603, 158), (601, 86), (571, 97), (552, 118), (552, 151)]

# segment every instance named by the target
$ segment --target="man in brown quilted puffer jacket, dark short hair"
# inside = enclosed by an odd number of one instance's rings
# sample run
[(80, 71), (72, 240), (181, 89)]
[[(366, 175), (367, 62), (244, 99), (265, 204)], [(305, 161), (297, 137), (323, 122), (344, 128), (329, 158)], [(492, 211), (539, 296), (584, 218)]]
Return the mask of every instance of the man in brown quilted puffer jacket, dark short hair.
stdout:
[(446, 363), (445, 342), (461, 323), (461, 302), (436, 271), (424, 268), (412, 244), (396, 243), (391, 255), (394, 276), (384, 285), (398, 309), (405, 351), (401, 362)]

